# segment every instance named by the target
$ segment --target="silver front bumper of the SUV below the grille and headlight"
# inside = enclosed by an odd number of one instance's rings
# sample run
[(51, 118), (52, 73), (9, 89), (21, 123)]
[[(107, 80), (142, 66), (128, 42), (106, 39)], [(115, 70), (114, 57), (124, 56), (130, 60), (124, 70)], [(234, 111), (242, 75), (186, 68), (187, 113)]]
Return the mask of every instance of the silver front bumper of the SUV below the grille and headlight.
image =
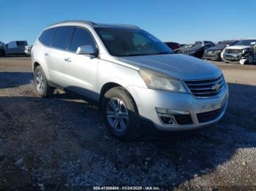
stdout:
[[(192, 94), (187, 93), (172, 93), (161, 90), (151, 90), (143, 87), (129, 86), (129, 93), (135, 100), (138, 106), (140, 118), (144, 121), (150, 121), (154, 124), (154, 128), (162, 131), (182, 131), (203, 128), (220, 120), (225, 114), (228, 100), (228, 87), (225, 84), (222, 92), (217, 96), (209, 98), (196, 98)], [(192, 119), (192, 124), (189, 125), (167, 125), (163, 124), (159, 119), (157, 108), (165, 108), (170, 110), (188, 112)], [(217, 117), (209, 121), (200, 122), (197, 114), (207, 113), (214, 110), (220, 110)], [(143, 127), (147, 128), (147, 127)]]

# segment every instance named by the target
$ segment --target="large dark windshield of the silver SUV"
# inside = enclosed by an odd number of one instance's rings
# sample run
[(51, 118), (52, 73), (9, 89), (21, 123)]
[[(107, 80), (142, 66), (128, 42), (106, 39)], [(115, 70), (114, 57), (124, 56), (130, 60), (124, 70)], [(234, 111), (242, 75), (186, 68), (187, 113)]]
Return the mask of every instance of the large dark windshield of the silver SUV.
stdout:
[(108, 52), (114, 56), (172, 54), (156, 37), (140, 29), (95, 28)]

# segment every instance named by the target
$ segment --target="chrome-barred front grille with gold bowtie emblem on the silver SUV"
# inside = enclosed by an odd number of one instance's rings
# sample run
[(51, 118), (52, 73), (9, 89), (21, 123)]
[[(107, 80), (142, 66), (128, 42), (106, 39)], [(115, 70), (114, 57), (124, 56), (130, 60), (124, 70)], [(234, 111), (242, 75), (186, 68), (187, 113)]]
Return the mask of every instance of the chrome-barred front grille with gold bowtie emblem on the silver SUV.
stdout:
[(185, 81), (191, 93), (197, 97), (211, 97), (218, 95), (224, 88), (222, 76), (211, 79), (197, 79)]

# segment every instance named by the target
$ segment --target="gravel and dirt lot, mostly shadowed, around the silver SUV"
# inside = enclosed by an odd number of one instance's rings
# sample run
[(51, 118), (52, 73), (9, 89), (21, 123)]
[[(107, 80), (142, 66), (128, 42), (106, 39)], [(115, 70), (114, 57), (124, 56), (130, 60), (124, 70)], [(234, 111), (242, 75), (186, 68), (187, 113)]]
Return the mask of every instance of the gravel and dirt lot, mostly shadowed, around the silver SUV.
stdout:
[(256, 188), (256, 66), (217, 63), (230, 87), (211, 128), (170, 140), (111, 138), (97, 107), (39, 98), (29, 58), (0, 59), (0, 190), (159, 186)]

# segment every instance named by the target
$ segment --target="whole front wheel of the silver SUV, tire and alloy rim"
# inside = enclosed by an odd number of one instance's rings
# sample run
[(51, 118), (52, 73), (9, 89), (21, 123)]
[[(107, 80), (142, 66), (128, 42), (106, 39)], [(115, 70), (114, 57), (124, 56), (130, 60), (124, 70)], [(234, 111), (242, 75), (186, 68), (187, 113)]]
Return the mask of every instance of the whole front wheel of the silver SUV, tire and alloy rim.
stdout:
[(124, 141), (140, 136), (138, 109), (124, 87), (113, 87), (105, 93), (102, 115), (112, 136)]

